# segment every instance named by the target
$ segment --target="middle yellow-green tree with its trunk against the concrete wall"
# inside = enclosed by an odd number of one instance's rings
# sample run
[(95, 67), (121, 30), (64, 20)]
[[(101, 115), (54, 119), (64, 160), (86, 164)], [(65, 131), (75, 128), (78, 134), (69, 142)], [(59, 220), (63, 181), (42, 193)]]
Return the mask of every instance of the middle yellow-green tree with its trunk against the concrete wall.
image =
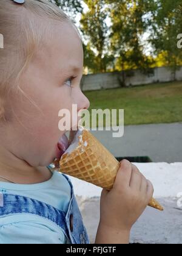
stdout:
[(143, 73), (150, 72), (153, 60), (144, 54), (142, 37), (147, 31), (147, 13), (151, 1), (147, 0), (108, 0), (112, 21), (111, 47), (116, 57), (116, 69), (139, 68)]

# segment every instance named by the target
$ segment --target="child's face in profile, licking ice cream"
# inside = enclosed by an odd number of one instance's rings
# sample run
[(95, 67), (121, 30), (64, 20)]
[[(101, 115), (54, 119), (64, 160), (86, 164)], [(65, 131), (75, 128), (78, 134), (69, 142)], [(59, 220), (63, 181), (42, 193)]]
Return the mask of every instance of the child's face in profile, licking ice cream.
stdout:
[(23, 95), (10, 99), (14, 114), (9, 115), (8, 146), (31, 166), (47, 166), (56, 157), (58, 140), (65, 133), (58, 129), (59, 110), (67, 108), (72, 113), (72, 104), (78, 105), (78, 111), (89, 107), (79, 87), (83, 48), (78, 33), (70, 24), (54, 25), (53, 29), (52, 42), (44, 42), (20, 83), (41, 112)]

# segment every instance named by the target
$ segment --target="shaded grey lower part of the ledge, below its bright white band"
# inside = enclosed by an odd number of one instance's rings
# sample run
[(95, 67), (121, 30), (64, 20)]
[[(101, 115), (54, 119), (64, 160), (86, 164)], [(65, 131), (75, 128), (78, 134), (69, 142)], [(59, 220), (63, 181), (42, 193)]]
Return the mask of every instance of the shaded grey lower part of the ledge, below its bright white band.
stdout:
[[(176, 199), (158, 198), (164, 212), (147, 207), (141, 218), (133, 226), (130, 243), (181, 244), (181, 210)], [(94, 243), (99, 224), (99, 198), (82, 201), (78, 198), (84, 224), (89, 233), (90, 243)]]

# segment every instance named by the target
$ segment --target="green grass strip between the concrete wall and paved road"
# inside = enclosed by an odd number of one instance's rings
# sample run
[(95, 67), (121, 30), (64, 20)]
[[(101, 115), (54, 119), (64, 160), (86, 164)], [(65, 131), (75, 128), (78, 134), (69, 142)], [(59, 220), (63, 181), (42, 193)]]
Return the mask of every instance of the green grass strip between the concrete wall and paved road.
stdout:
[(86, 91), (90, 108), (124, 109), (124, 124), (182, 121), (182, 82)]

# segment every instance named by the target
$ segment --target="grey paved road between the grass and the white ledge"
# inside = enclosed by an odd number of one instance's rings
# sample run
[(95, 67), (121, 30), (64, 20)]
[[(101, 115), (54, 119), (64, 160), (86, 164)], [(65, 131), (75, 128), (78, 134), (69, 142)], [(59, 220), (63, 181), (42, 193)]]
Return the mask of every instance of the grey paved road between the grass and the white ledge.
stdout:
[(122, 138), (112, 131), (92, 132), (115, 157), (149, 156), (153, 162), (182, 162), (182, 123), (125, 126)]

